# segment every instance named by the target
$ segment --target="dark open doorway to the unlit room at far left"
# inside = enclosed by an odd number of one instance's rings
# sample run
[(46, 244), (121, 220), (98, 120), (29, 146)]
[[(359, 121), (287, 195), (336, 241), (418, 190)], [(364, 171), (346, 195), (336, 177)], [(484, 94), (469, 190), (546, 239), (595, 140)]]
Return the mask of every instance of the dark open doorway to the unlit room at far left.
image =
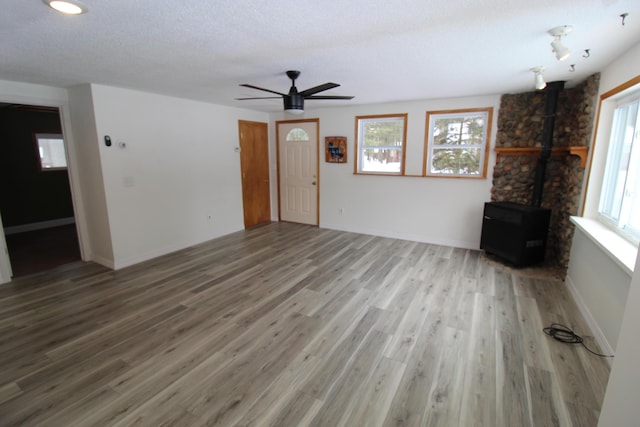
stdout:
[(63, 142), (57, 107), (0, 104), (0, 240), (14, 278), (81, 259)]

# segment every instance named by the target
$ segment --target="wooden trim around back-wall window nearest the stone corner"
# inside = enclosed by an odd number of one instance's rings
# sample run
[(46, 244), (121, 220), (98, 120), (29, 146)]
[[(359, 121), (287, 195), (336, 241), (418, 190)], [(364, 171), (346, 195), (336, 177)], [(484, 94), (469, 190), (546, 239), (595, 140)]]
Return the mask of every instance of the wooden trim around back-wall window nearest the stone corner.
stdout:
[[(466, 114), (466, 113), (486, 113), (487, 123), (485, 126), (485, 143), (480, 146), (482, 152), (482, 160), (480, 166), (482, 168), (479, 175), (464, 175), (464, 174), (434, 174), (429, 172), (429, 159), (431, 158), (431, 146), (429, 144), (429, 137), (431, 135), (430, 121), (431, 117), (446, 116), (454, 114)], [(489, 167), (489, 149), (491, 147), (491, 131), (493, 127), (493, 107), (481, 107), (481, 108), (461, 108), (456, 110), (436, 110), (427, 111), (425, 120), (425, 135), (424, 135), (424, 155), (422, 161), (422, 176), (428, 178), (464, 178), (464, 179), (486, 179), (487, 169)]]

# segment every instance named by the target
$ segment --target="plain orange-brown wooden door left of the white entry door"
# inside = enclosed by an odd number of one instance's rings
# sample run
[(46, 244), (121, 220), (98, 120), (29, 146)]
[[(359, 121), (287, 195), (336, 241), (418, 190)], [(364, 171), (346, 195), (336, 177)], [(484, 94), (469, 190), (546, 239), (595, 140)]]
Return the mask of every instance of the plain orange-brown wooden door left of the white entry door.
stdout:
[(244, 226), (271, 221), (269, 138), (266, 123), (238, 121)]

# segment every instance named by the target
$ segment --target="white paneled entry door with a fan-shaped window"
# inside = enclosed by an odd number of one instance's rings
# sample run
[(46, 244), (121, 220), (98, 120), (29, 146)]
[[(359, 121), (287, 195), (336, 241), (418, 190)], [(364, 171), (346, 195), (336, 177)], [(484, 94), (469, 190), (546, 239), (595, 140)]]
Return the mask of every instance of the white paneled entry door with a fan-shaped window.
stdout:
[(277, 129), (280, 220), (318, 225), (318, 119)]

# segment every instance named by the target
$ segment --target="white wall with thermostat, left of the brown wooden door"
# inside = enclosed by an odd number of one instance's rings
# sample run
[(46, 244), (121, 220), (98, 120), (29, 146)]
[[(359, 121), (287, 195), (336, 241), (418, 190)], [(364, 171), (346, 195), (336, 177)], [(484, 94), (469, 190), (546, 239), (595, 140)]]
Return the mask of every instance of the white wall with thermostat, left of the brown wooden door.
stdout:
[(91, 96), (114, 268), (244, 228), (238, 120), (266, 113), (93, 84)]

